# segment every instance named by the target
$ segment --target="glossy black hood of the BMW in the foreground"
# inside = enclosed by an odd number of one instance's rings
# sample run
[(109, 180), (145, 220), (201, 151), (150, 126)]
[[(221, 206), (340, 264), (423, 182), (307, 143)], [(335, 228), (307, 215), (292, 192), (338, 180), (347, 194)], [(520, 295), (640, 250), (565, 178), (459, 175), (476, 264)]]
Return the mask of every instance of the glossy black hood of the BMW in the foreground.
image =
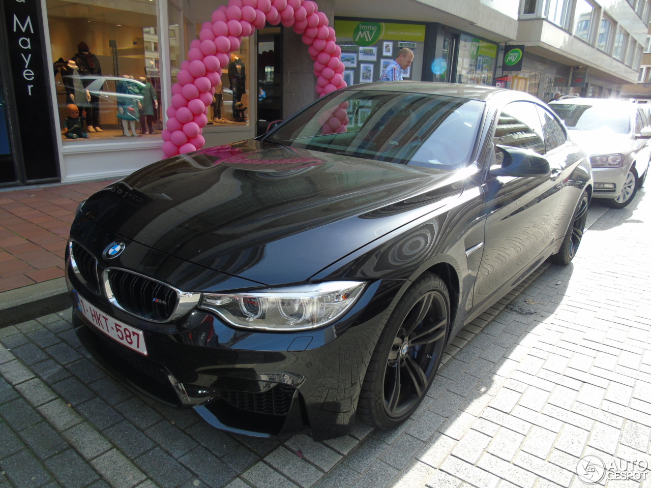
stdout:
[(156, 251), (283, 284), (456, 198), (461, 173), (252, 140), (154, 163), (92, 195), (82, 211)]

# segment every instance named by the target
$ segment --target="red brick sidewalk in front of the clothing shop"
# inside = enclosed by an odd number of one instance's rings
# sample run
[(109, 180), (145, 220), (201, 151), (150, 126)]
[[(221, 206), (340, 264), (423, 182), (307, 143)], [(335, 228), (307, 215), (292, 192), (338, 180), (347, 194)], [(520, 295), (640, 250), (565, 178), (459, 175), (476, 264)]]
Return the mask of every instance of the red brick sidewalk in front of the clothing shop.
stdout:
[(113, 181), (0, 192), (0, 292), (62, 277), (77, 205)]

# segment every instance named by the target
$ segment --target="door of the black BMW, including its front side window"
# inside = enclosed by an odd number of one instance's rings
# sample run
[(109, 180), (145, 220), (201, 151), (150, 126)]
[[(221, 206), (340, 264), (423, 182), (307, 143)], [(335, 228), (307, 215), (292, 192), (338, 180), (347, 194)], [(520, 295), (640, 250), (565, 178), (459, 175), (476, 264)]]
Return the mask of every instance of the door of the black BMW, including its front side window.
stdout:
[[(488, 165), (500, 165), (497, 144), (533, 150), (549, 156), (551, 173), (535, 177), (497, 176), (486, 173), (484, 253), (473, 291), (480, 306), (505, 286), (514, 286), (537, 267), (559, 233), (557, 208), (561, 201), (562, 156), (555, 146), (547, 152), (543, 128), (533, 102), (511, 102), (501, 109), (493, 128), (495, 150)], [(553, 144), (552, 144), (553, 145)]]

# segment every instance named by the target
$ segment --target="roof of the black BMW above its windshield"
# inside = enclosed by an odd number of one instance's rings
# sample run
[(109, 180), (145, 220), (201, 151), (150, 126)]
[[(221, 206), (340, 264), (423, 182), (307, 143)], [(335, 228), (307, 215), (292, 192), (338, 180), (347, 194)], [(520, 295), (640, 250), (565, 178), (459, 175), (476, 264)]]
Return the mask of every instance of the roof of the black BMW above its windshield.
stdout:
[(485, 102), (497, 92), (510, 92), (505, 88), (487, 87), (486, 85), (463, 85), (462, 83), (437, 83), (435, 81), (378, 81), (351, 85), (344, 90), (374, 90), (383, 92), (412, 92), (422, 94), (436, 94), (456, 96), (481, 100)]

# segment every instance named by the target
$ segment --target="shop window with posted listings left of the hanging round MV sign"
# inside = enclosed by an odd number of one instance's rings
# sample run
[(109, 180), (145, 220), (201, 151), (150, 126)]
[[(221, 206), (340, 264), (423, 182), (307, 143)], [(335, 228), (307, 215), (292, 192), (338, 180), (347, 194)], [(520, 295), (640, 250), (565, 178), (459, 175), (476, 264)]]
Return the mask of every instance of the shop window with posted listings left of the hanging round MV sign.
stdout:
[(461, 34), (456, 68), (457, 83), (492, 85), (496, 58), (496, 44), (473, 38), (469, 34)]

